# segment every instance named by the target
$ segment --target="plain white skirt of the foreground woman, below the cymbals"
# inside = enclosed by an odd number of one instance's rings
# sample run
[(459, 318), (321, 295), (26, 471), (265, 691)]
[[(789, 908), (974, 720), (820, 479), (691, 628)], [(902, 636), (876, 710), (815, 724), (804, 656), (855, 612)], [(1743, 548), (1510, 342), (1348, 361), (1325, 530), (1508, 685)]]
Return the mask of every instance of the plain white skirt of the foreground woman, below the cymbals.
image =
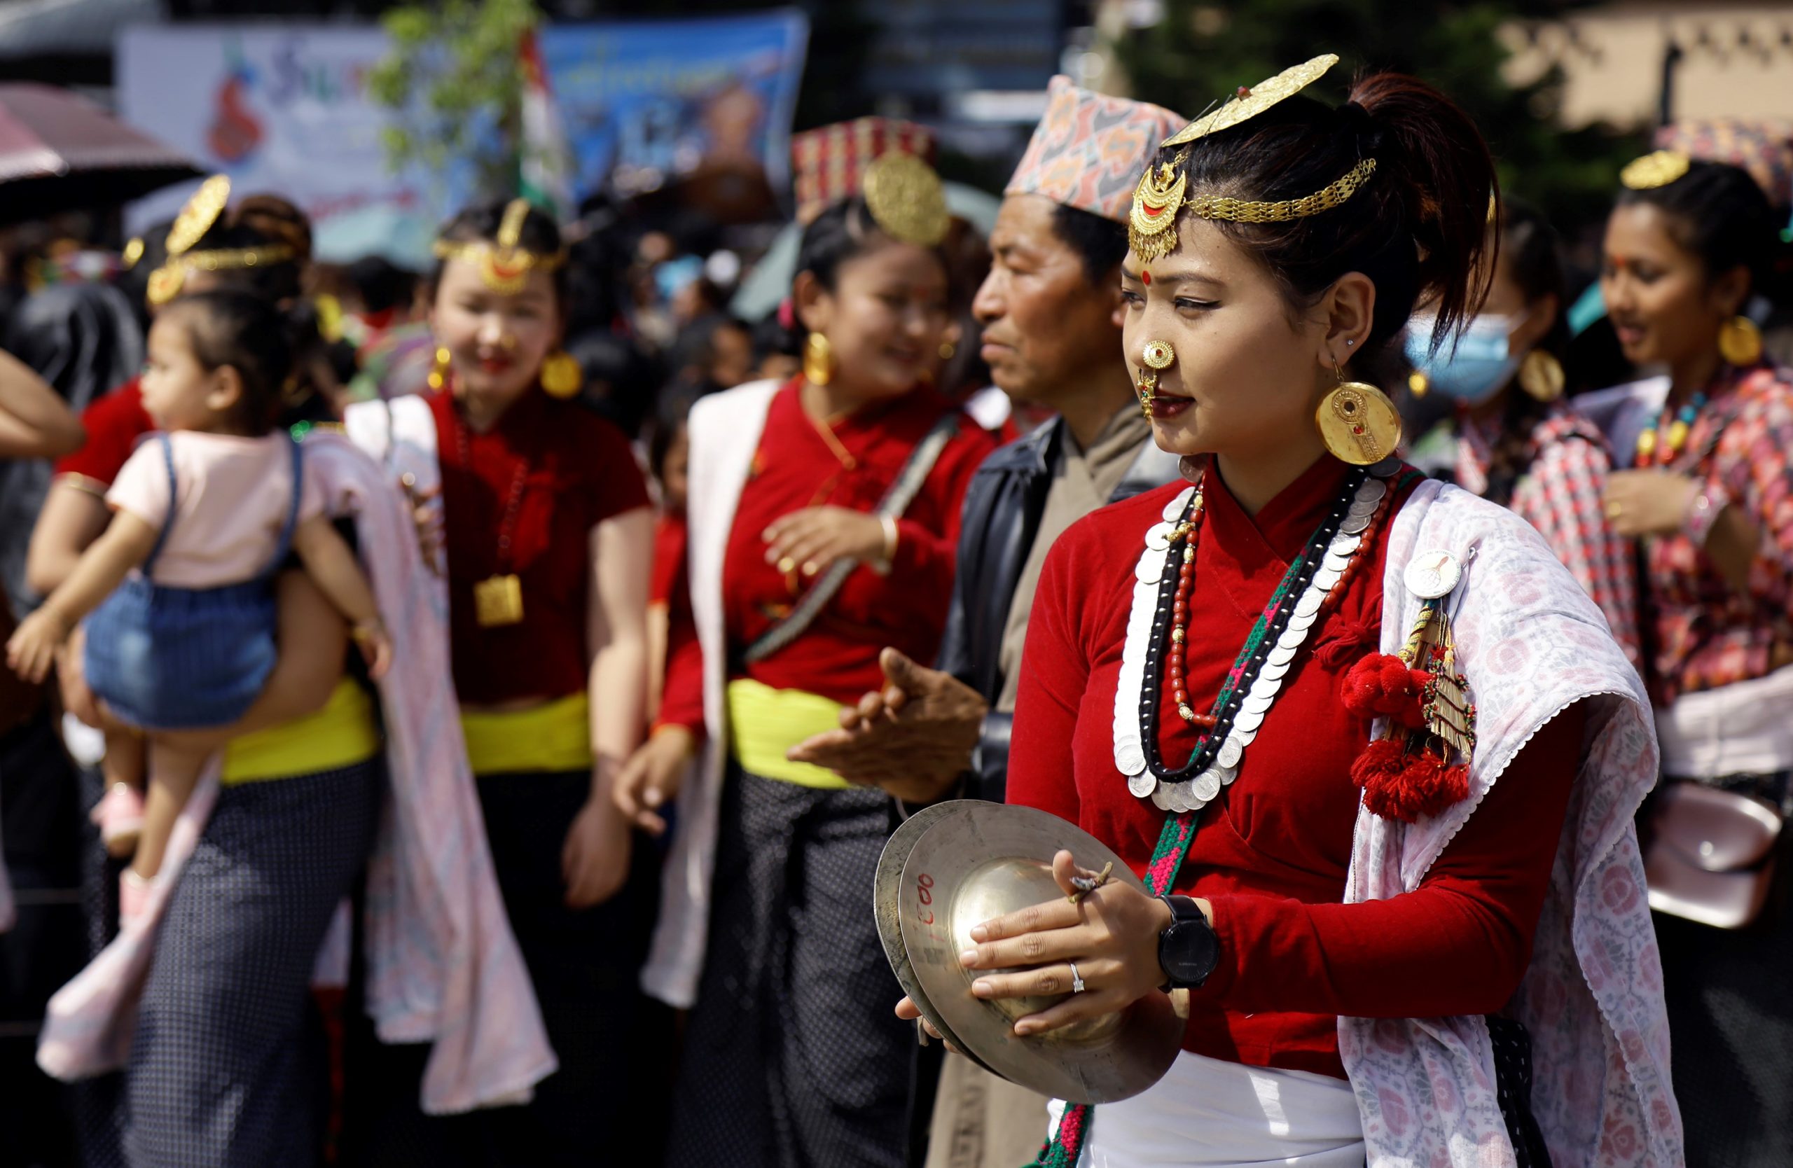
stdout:
[[(1052, 1130), (1065, 1104), (1052, 1100)], [(1363, 1168), (1350, 1084), (1187, 1050), (1142, 1095), (1094, 1111), (1078, 1168)]]

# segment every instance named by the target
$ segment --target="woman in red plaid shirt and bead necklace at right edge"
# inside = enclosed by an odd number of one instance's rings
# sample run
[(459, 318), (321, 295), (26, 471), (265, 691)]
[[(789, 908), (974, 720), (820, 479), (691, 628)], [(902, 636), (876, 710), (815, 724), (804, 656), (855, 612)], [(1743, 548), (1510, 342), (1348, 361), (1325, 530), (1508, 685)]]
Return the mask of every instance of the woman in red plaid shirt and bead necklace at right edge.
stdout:
[[(1624, 183), (1601, 292), (1624, 356), (1664, 367), (1667, 396), (1621, 451), (1633, 469), (1612, 477), (1607, 514), (1642, 550), (1662, 774), (1784, 815), (1793, 373), (1764, 364), (1741, 313), (1770, 292), (1786, 247), (1768, 199), (1736, 167), (1660, 152)], [(1689, 1164), (1793, 1163), (1793, 901), (1768, 905), (1748, 932), (1657, 917)]]

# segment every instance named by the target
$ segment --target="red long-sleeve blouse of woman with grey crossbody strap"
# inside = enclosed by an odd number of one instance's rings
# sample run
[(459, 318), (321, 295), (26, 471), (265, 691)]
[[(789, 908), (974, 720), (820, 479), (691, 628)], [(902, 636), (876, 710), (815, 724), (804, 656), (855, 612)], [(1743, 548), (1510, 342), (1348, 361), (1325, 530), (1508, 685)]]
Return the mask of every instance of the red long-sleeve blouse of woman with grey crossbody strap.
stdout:
[[(805, 507), (834, 505), (873, 511), (902, 473), (909, 453), (948, 410), (932, 389), (916, 389), (888, 405), (866, 407), (830, 425), (834, 442), (803, 412), (801, 378), (784, 385), (766, 414), (766, 428), (723, 563), (723, 620), (730, 650), (751, 645), (798, 602), (807, 579), (766, 563), (766, 527)], [(841, 450), (837, 451), (836, 446)], [(886, 575), (861, 566), (809, 631), (784, 650), (735, 668), (775, 690), (807, 690), (841, 704), (857, 702), (884, 684), (879, 652), (895, 645), (931, 661), (940, 648), (952, 595), (959, 541), (959, 507), (977, 464), (995, 439), (961, 416), (959, 432), (941, 450), (914, 502), (896, 521), (896, 559)], [(852, 459), (846, 466), (845, 451)], [(685, 582), (680, 588), (687, 588)], [(689, 620), (689, 604), (671, 602), (665, 702), (660, 724), (703, 733), (703, 650)]]

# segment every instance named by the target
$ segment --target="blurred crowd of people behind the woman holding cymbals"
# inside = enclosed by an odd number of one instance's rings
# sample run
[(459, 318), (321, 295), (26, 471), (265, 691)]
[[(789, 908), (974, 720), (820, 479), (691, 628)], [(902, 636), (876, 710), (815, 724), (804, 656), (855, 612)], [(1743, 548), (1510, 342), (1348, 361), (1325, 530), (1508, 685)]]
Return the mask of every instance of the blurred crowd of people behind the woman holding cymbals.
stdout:
[[(1045, 1102), (891, 1012), (868, 890), (1004, 797), (1052, 541), (1180, 480), (1121, 346), (1180, 125), (1060, 79), (1000, 208), (866, 118), (748, 244), (495, 199), (427, 272), (219, 179), (11, 229), (0, 1163), (1035, 1155)], [(1793, 136), (1655, 145), (1592, 244), (1490, 199), (1461, 337), (1422, 303), (1352, 376), (1594, 598), (1664, 776), (1771, 819), (1728, 869), (1641, 829), (1689, 1163), (1788, 1163)]]

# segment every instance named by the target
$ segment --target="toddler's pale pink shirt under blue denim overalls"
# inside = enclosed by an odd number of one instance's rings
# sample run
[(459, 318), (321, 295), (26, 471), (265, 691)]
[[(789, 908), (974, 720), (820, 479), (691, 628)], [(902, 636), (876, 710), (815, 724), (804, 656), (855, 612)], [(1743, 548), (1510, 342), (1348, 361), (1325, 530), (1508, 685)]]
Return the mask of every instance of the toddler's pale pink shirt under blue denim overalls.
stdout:
[[(169, 468), (160, 434), (143, 439), (106, 493), (154, 528), (169, 516)], [(178, 500), (174, 525), (154, 564), (154, 580), (172, 588), (217, 588), (260, 575), (274, 557), (280, 525), (292, 503), (292, 446), (285, 432), (264, 437), (169, 434)], [(298, 521), (319, 514), (323, 489), (303, 475)]]

